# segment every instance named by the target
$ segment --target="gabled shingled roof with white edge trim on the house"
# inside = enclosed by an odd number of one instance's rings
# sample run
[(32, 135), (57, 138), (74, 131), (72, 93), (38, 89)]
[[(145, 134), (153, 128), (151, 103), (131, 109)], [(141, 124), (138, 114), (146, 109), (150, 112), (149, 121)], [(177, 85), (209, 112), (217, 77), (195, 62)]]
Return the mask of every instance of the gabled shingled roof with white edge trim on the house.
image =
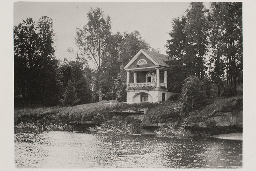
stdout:
[(140, 51), (132, 58), (132, 60), (129, 63), (127, 63), (124, 69), (129, 68), (132, 65), (132, 63), (140, 56), (141, 53), (145, 55), (150, 61), (152, 61), (156, 66), (170, 67), (164, 62), (170, 60), (168, 55), (152, 52), (146, 49), (140, 49)]

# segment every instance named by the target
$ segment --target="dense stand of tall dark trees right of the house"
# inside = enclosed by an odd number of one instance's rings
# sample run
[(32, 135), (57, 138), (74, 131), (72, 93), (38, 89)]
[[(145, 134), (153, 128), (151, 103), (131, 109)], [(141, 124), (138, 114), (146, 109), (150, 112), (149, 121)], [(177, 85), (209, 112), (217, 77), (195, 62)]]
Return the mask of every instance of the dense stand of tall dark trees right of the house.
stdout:
[(217, 85), (218, 96), (221, 88), (228, 96), (237, 95), (236, 85), (243, 82), (242, 2), (212, 2), (210, 10), (192, 2), (172, 21), (165, 45), (175, 58), (169, 62), (171, 90), (181, 92), (182, 80), (196, 76)]

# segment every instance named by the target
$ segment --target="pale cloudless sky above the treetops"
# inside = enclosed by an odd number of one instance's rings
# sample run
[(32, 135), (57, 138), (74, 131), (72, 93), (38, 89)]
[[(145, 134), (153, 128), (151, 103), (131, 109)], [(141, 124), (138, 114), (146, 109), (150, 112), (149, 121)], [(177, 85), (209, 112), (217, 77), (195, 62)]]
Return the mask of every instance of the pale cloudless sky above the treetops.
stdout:
[[(204, 3), (209, 8), (209, 2)], [(189, 2), (16, 2), (13, 5), (13, 24), (32, 18), (38, 21), (42, 16), (53, 20), (56, 33), (56, 58), (75, 60), (68, 48), (77, 50), (76, 27), (82, 28), (88, 22), (90, 8), (100, 7), (109, 15), (112, 33), (128, 33), (137, 30), (152, 48), (165, 53), (164, 45), (170, 39), (172, 19), (184, 14)]]

